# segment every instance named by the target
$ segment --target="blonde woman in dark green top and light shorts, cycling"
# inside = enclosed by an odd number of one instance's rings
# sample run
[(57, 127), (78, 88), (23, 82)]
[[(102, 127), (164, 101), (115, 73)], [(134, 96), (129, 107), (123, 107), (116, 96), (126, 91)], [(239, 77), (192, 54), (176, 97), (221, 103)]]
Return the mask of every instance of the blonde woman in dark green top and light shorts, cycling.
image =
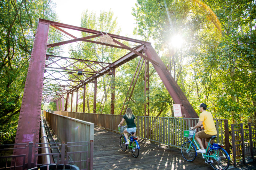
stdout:
[(132, 109), (131, 109), (130, 107), (128, 107), (128, 108), (126, 109), (126, 113), (125, 113), (125, 115), (123, 116), (123, 119), (122, 119), (122, 121), (119, 123), (118, 126), (120, 126), (121, 124), (123, 124), (124, 120), (125, 120), (126, 123), (127, 123), (127, 128), (124, 129), (124, 136), (125, 136), (126, 141), (127, 141), (125, 144), (129, 144), (129, 139), (128, 139), (128, 136), (127, 136), (126, 133), (132, 133), (132, 132), (134, 132), (134, 134), (133, 134), (133, 137), (134, 137), (134, 136), (136, 135), (136, 130), (137, 130), (136, 124), (135, 124), (135, 116), (133, 115)]

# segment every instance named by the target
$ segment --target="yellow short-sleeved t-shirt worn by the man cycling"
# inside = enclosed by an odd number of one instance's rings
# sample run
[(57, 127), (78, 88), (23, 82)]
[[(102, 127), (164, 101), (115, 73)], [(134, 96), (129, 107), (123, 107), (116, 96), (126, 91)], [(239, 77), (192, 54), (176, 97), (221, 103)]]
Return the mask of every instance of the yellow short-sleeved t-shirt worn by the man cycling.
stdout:
[(217, 130), (212, 118), (212, 114), (207, 111), (203, 111), (199, 115), (199, 121), (203, 122), (204, 132), (208, 135), (217, 135)]

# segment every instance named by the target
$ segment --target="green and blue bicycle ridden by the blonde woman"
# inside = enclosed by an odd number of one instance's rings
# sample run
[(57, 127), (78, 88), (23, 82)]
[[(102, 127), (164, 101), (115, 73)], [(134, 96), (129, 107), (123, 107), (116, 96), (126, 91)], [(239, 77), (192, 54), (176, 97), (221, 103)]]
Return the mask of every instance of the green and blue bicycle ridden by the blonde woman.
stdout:
[[(120, 147), (123, 151), (126, 151), (127, 146), (129, 148), (129, 150), (132, 152), (132, 155), (137, 158), (139, 156), (140, 153), (140, 145), (137, 142), (138, 137), (133, 137), (132, 135), (134, 134), (134, 132), (130, 133), (128, 135), (128, 138), (130, 138), (129, 140), (129, 144), (125, 144), (126, 143), (126, 138), (124, 136), (124, 128), (126, 126), (120, 126), (118, 127), (118, 130), (121, 133), (121, 137), (119, 139), (119, 143), (120, 143)], [(130, 136), (130, 137), (129, 137)]]

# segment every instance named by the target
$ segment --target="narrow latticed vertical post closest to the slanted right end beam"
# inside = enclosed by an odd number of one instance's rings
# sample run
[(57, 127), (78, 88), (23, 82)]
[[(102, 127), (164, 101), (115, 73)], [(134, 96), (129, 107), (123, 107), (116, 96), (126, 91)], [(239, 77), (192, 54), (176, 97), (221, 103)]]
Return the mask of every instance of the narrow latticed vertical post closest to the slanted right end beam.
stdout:
[[(144, 76), (144, 116), (149, 116), (149, 61), (145, 62), (145, 76)], [(148, 112), (148, 113), (147, 113)]]

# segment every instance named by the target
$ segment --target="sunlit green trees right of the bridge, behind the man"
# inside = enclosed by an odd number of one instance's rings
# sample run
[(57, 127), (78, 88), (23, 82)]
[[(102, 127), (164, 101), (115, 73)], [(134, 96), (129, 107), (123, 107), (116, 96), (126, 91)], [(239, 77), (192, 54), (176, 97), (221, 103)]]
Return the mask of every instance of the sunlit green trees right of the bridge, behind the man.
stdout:
[[(164, 0), (137, 2), (134, 32), (155, 41), (192, 106), (206, 102), (217, 118), (255, 120), (255, 1), (167, 0), (171, 22)], [(188, 37), (182, 53), (169, 47), (170, 32)]]

